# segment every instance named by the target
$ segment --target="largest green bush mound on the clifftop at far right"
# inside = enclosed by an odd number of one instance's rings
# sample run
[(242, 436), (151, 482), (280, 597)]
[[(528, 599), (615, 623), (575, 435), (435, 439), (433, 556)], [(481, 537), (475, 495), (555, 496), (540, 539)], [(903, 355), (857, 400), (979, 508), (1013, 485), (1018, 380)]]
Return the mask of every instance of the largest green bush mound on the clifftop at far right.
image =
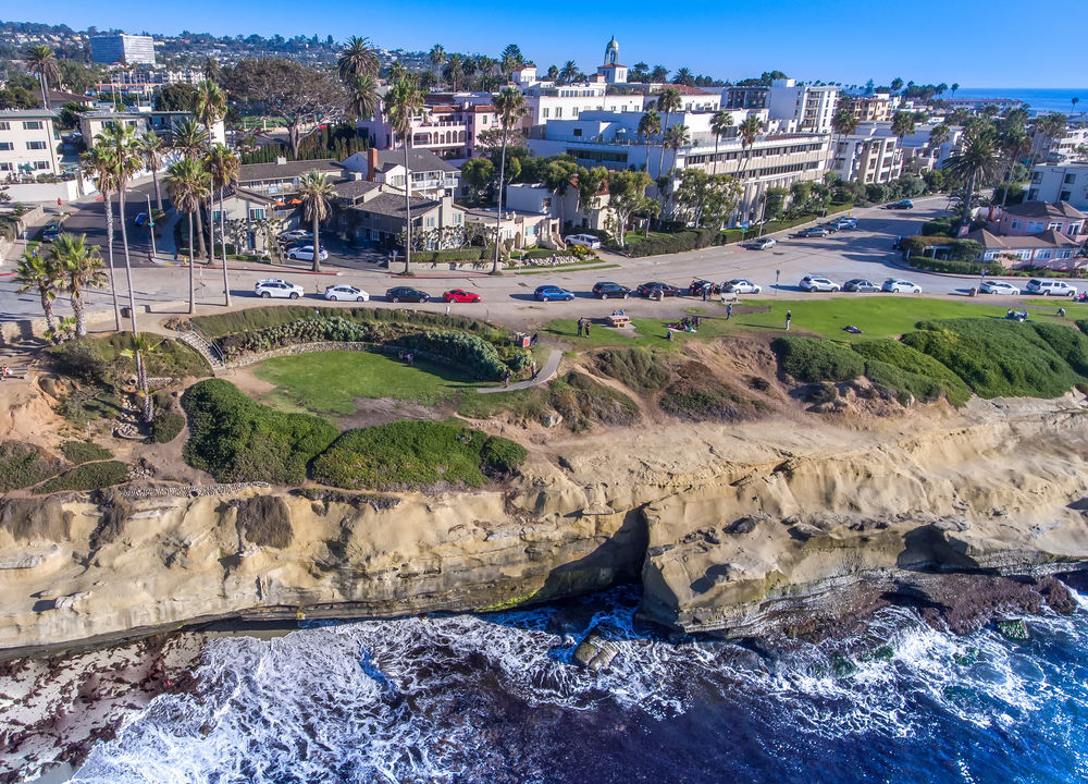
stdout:
[(1056, 397), (1081, 379), (1033, 327), (1004, 319), (923, 321), (902, 340), (955, 371), (980, 397)]

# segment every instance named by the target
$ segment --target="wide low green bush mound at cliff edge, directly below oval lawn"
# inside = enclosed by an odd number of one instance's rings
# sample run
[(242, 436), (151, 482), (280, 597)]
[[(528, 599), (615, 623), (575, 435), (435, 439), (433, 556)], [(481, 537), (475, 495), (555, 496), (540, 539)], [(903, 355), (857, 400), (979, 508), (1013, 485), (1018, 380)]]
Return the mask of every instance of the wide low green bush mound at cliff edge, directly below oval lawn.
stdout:
[(486, 482), (484, 468), (511, 470), (524, 460), (523, 452), (472, 428), (400, 419), (345, 432), (313, 461), (313, 478), (347, 490), (420, 489), (440, 482), (479, 487)]

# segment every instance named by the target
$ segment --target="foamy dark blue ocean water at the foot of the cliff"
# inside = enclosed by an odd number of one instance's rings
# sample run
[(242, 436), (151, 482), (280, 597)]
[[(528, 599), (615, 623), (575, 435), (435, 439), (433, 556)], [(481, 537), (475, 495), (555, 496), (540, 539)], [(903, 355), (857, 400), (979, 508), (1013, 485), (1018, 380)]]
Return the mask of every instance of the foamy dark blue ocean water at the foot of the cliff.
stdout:
[[(1088, 781), (1088, 602), (1014, 641), (878, 612), (855, 637), (667, 639), (614, 589), (524, 612), (313, 624), (206, 649), (74, 781)], [(609, 670), (572, 663), (590, 627)]]

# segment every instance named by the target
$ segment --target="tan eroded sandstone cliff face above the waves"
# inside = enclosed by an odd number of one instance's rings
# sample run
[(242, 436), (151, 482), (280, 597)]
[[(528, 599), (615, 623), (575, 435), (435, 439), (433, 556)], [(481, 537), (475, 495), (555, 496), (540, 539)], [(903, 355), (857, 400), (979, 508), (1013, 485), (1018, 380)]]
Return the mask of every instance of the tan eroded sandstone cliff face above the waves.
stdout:
[[(1088, 561), (1079, 399), (843, 425), (571, 437), (533, 450), (511, 487), (409, 493), (390, 509), (273, 488), (111, 509), (9, 500), (0, 649), (221, 616), (498, 609), (640, 576), (647, 617), (747, 635), (875, 590), (910, 593), (935, 569), (1043, 574)], [(261, 515), (286, 534), (246, 519), (259, 495), (276, 499)]]

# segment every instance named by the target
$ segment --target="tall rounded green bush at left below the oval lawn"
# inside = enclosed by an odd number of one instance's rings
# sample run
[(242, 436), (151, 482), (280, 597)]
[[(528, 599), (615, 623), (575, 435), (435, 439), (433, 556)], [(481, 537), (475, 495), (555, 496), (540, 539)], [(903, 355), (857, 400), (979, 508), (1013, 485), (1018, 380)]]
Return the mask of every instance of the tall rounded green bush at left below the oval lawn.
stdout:
[(337, 436), (324, 419), (261, 405), (222, 379), (194, 384), (182, 405), (189, 417), (182, 455), (218, 481), (299, 485), (309, 462)]

